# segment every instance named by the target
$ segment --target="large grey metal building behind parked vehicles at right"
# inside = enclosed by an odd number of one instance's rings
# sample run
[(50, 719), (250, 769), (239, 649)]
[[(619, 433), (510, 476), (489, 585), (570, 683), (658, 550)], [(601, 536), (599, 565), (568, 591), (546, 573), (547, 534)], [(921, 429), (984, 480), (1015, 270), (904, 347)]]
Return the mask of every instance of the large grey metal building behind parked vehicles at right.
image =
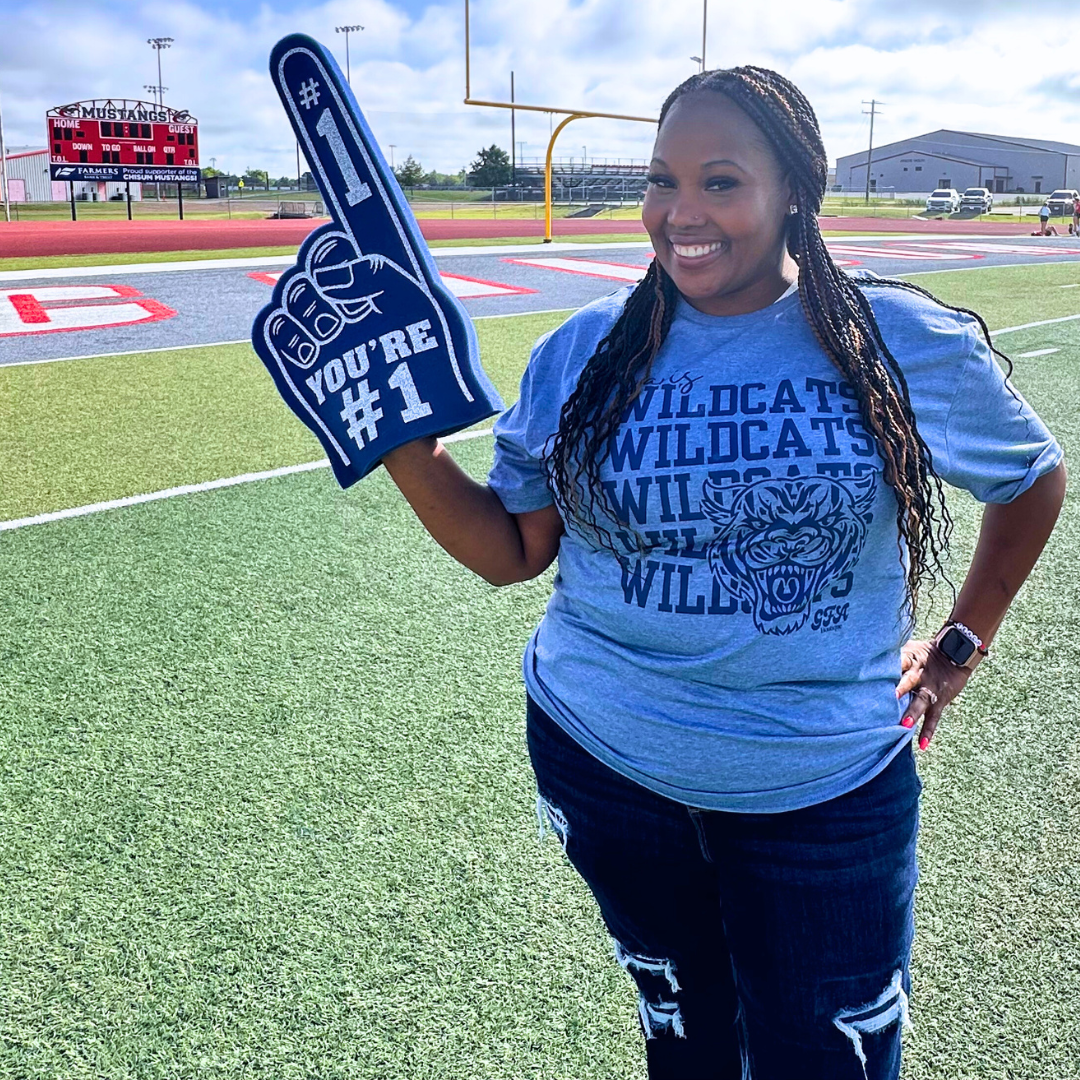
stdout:
[[(866, 150), (837, 159), (836, 184), (866, 188)], [(1049, 194), (1080, 188), (1080, 146), (1042, 138), (1012, 138), (947, 129), (874, 147), (872, 191), (989, 188)]]

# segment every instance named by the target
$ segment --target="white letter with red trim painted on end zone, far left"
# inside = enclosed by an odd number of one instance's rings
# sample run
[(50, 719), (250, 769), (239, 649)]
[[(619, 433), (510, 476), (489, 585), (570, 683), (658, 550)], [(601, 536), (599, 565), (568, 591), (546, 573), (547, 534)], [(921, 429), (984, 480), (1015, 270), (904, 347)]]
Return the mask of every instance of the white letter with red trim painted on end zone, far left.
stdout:
[(41, 285), (0, 289), (0, 337), (106, 329), (173, 319), (176, 312), (131, 285)]

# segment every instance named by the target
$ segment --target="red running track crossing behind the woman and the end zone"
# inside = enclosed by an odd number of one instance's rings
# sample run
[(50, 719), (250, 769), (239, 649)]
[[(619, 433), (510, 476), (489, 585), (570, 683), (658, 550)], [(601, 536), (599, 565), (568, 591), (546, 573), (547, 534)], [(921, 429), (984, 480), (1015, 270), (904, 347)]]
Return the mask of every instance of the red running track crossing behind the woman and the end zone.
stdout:
[[(243, 221), (0, 221), (0, 258), (40, 255), (103, 255), (107, 253), (219, 251), (233, 247), (294, 247), (321, 220)], [(913, 235), (971, 233), (1026, 235), (1032, 225), (998, 221), (916, 221), (912, 218), (825, 217), (825, 230), (904, 232)], [(543, 235), (543, 221), (510, 219), (485, 221), (421, 220), (428, 240), (484, 240)], [(557, 237), (640, 232), (640, 221), (599, 221), (559, 218)]]

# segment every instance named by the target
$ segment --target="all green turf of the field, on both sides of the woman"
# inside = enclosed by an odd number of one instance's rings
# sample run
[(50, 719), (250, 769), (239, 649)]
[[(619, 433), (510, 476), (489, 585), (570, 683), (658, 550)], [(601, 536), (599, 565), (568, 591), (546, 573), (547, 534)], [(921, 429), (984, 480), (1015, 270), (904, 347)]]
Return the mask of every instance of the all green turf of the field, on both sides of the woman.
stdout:
[[(1068, 269), (916, 280), (1001, 327), (1075, 313)], [(508, 400), (557, 321), (478, 324)], [(1075, 457), (1080, 321), (999, 343), (1059, 350), (1015, 382)], [(117, 360), (0, 369), (0, 497), (321, 456), (243, 347)], [(491, 443), (453, 453), (483, 476)], [(980, 508), (950, 500), (959, 580)], [(1072, 490), (919, 755), (904, 1080), (1080, 1080), (1078, 544)], [(536, 842), (519, 658), (550, 572), (487, 586), (382, 472), (0, 532), (0, 1078), (644, 1078), (631, 983)]]

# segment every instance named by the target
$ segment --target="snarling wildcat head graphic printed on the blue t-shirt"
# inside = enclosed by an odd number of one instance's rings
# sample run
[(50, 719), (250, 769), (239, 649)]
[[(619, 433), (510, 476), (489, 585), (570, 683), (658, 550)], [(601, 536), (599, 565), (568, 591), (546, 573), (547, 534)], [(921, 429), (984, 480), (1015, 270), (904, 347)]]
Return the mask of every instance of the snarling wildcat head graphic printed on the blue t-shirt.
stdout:
[(828, 476), (706, 481), (701, 509), (718, 526), (708, 565), (734, 597), (751, 605), (762, 634), (791, 634), (814, 598), (859, 562), (877, 474), (841, 483)]

